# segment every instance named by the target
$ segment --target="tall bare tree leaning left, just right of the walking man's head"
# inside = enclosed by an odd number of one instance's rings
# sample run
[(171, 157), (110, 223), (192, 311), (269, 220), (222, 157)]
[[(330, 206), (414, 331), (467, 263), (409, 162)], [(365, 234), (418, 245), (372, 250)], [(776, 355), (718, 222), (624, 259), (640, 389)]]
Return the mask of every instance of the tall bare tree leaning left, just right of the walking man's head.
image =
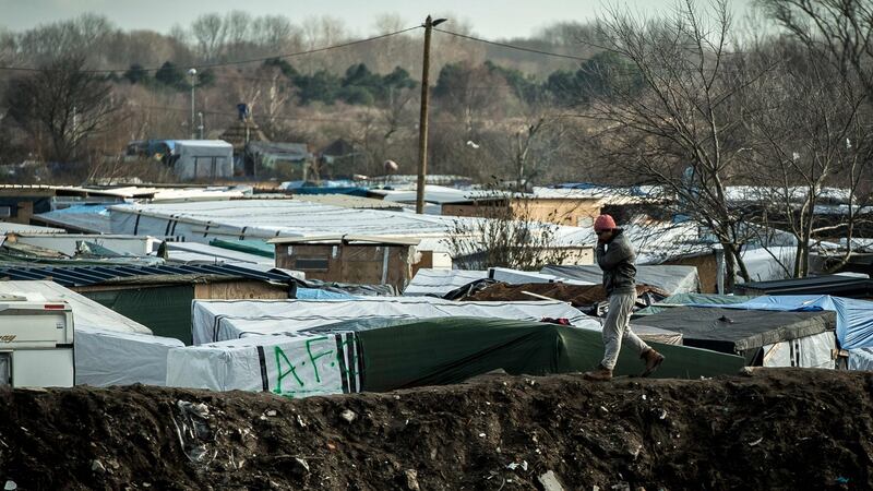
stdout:
[(749, 280), (742, 260), (749, 235), (726, 187), (741, 149), (730, 105), (758, 74), (728, 68), (730, 26), (725, 0), (707, 10), (687, 0), (661, 20), (609, 11), (599, 35), (606, 49), (629, 61), (634, 70), (624, 76), (638, 77), (642, 89), (629, 81), (591, 91), (595, 99), (583, 115), (601, 124), (595, 142), (607, 165), (624, 179), (653, 184), (674, 213), (711, 233), (725, 248), (728, 270)]

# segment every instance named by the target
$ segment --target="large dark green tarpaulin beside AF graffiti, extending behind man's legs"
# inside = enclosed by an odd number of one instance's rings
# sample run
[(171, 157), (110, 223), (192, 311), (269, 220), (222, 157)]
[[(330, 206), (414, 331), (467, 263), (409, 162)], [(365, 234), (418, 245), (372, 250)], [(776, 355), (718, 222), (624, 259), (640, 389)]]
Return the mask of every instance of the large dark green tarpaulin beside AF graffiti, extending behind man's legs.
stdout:
[[(546, 375), (595, 368), (603, 356), (598, 331), (525, 321), (473, 318), (421, 320), (361, 331), (364, 391), (391, 391), (463, 382), (503, 369)], [(682, 346), (654, 344), (667, 361), (658, 378), (697, 379), (737, 373), (744, 360)], [(642, 372), (636, 354), (623, 349), (617, 375)]]

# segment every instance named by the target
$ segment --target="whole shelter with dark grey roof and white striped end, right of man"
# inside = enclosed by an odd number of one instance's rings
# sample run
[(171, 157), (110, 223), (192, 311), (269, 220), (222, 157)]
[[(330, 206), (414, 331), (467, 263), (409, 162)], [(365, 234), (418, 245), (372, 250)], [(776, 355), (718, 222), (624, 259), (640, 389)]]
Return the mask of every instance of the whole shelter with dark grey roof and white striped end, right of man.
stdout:
[(682, 333), (685, 346), (742, 355), (750, 366), (835, 368), (834, 312), (677, 307), (645, 323)]

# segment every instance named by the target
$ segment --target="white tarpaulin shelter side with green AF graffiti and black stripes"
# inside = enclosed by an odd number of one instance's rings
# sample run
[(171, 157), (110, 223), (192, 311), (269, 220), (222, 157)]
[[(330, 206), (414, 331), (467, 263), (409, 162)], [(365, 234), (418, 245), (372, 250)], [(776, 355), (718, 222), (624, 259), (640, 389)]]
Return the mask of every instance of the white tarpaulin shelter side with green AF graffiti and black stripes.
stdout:
[(306, 397), (357, 392), (359, 370), (354, 333), (253, 336), (171, 349), (167, 385)]

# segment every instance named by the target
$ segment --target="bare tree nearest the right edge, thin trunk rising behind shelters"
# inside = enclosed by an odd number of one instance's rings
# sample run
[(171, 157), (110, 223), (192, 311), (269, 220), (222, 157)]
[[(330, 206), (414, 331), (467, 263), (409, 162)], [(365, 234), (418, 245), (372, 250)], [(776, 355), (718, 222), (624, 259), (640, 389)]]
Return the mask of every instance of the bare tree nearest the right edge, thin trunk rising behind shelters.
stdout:
[[(863, 89), (820, 55), (793, 41), (758, 47), (758, 63), (769, 65), (768, 58), (786, 62), (744, 91), (737, 104), (749, 130), (746, 173), (756, 184), (749, 188), (746, 201), (757, 208), (750, 218), (794, 237), (793, 264), (786, 265), (793, 277), (810, 274), (810, 251), (820, 235), (840, 231), (851, 242), (859, 184), (873, 157)], [(818, 209), (827, 187), (847, 191), (848, 215), (837, 224), (825, 221), (828, 216)]]

